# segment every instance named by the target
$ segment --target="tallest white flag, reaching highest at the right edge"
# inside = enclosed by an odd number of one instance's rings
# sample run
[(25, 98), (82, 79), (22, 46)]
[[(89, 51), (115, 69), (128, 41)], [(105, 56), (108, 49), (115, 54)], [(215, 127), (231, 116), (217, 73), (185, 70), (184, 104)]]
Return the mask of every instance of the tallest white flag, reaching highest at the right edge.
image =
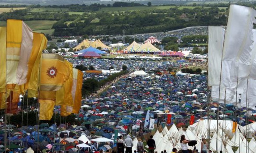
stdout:
[(251, 65), (255, 16), (253, 8), (230, 6), (222, 56), (221, 81), (225, 87), (236, 86), (239, 73), (248, 74), (247, 69), (239, 71), (239, 67)]

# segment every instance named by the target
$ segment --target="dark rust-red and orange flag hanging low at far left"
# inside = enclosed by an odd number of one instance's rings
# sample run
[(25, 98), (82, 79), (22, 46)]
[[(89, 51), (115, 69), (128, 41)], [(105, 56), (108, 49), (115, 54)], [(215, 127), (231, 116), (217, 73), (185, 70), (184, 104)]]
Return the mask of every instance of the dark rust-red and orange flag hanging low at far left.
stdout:
[(11, 91), (7, 101), (7, 114), (17, 114), (18, 102), (20, 101), (20, 94), (18, 92)]

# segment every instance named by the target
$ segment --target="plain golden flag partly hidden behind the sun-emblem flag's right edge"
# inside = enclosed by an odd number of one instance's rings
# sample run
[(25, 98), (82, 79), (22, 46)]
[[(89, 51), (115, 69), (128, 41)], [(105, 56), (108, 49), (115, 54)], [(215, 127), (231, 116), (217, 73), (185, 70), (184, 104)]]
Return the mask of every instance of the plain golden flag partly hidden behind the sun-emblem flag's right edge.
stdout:
[(56, 92), (56, 105), (68, 105), (73, 106), (74, 102), (72, 99), (72, 85), (73, 85), (73, 65), (69, 63), (67, 60), (64, 60), (65, 65), (69, 70), (69, 78), (64, 83), (63, 87)]

